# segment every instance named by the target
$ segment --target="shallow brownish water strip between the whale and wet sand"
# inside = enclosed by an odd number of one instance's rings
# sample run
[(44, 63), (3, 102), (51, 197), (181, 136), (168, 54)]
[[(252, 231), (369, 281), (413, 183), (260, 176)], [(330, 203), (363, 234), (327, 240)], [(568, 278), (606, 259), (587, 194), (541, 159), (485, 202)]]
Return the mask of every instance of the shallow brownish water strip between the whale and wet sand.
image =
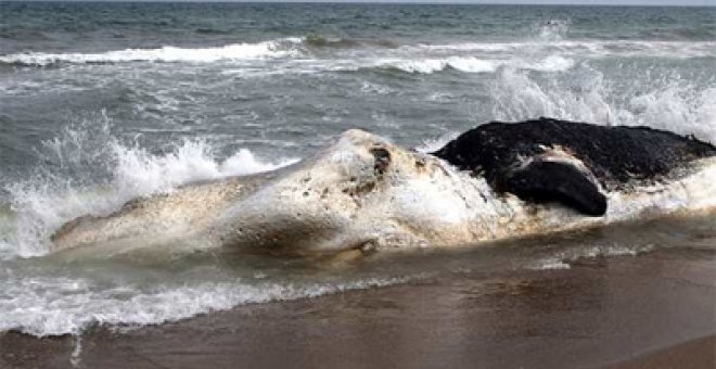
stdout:
[(375, 254), (278, 256), (235, 250), (79, 249), (3, 262), (2, 330), (80, 333), (133, 329), (213, 310), (385, 287), (444, 275), (570, 269), (604, 257), (678, 250), (716, 254), (713, 215), (612, 226), (536, 239)]

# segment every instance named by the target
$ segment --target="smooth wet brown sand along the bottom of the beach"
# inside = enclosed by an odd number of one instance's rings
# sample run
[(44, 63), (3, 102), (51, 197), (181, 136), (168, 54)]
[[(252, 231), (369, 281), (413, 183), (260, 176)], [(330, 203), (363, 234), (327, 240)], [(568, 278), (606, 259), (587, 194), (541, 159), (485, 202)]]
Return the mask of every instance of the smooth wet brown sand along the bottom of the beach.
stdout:
[(0, 336), (0, 368), (714, 368), (716, 256), (450, 273), (81, 339)]

